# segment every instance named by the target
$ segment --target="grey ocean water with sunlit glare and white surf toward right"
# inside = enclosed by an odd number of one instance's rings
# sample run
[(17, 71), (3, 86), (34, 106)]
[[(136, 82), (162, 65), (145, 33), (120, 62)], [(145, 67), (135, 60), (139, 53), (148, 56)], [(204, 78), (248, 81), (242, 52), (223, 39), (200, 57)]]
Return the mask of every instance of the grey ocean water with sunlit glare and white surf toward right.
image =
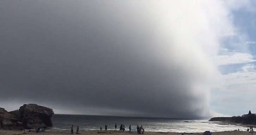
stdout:
[(231, 125), (221, 122), (211, 122), (208, 120), (186, 120), (186, 119), (166, 119), (166, 118), (150, 118), (150, 117), (117, 117), (117, 116), (96, 116), (96, 115), (65, 115), (54, 114), (52, 116), (53, 127), (50, 130), (70, 130), (73, 124), (74, 129), (79, 126), (80, 130), (102, 130), (105, 124), (108, 130), (114, 130), (117, 123), (117, 130), (120, 124), (124, 124), (126, 131), (131, 124), (132, 130), (136, 130), (136, 126), (143, 125), (145, 131), (158, 132), (177, 132), (177, 133), (196, 133), (204, 131), (230, 131), (246, 130), (246, 127)]

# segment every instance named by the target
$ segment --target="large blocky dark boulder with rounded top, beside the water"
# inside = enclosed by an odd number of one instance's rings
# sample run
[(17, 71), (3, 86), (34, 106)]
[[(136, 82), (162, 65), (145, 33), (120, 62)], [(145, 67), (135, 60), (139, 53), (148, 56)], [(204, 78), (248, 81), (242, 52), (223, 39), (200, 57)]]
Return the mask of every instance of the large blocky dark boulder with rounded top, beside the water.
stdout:
[(52, 109), (37, 104), (24, 104), (19, 110), (12, 111), (25, 129), (52, 127)]

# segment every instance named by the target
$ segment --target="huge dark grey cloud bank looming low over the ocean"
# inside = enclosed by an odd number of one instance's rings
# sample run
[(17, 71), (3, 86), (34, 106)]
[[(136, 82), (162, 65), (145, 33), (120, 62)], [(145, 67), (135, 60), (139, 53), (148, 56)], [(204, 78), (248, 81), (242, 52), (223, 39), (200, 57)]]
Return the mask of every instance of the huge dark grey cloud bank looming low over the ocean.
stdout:
[(202, 116), (207, 97), (193, 90), (200, 66), (175, 39), (158, 37), (159, 16), (145, 4), (1, 0), (0, 101)]

